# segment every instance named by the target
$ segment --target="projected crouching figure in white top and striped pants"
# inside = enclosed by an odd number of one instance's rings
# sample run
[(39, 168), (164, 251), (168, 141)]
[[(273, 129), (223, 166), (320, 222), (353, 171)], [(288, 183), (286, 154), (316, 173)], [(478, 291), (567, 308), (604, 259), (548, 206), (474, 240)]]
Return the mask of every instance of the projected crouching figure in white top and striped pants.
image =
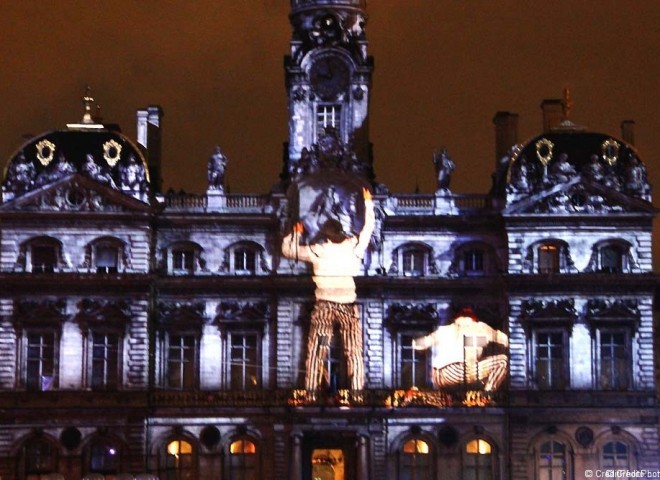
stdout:
[(415, 339), (416, 350), (433, 349), (432, 380), (436, 388), (477, 388), (497, 390), (506, 379), (509, 338), (477, 320), (466, 308), (453, 323)]

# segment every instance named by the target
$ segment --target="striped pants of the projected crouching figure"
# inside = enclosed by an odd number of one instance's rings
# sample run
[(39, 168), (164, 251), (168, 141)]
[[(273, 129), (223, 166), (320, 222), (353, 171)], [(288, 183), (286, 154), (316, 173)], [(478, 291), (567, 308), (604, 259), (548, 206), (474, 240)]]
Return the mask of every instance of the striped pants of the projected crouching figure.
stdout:
[(437, 388), (484, 383), (484, 390), (497, 390), (506, 378), (509, 362), (506, 355), (493, 355), (474, 363), (456, 362), (433, 369), (433, 385)]

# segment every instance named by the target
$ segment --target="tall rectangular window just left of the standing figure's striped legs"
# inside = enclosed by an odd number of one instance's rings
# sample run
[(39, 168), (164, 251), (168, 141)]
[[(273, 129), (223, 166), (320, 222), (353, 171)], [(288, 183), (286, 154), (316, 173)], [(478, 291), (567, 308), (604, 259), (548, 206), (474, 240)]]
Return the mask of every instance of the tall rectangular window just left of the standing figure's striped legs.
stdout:
[(261, 386), (259, 350), (256, 333), (231, 334), (229, 387), (232, 390), (252, 390)]

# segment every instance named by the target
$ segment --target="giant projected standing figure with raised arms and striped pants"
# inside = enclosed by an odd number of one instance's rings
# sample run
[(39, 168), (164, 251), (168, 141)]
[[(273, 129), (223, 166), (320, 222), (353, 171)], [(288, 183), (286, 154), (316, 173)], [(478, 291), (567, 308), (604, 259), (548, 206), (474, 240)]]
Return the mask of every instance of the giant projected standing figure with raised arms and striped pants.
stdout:
[(337, 219), (328, 219), (321, 227), (325, 239), (313, 245), (301, 245), (303, 225), (298, 222), (282, 240), (282, 255), (312, 264), (312, 279), (316, 284), (315, 304), (307, 340), (305, 388), (317, 390), (325, 378), (329, 384), (324, 362), (330, 349), (335, 324), (342, 337), (344, 357), (353, 390), (362, 390), (364, 364), (362, 358), (362, 329), (355, 304), (355, 281), (362, 257), (374, 229), (374, 205), (371, 193), (363, 189), (365, 219), (359, 235), (346, 232)]

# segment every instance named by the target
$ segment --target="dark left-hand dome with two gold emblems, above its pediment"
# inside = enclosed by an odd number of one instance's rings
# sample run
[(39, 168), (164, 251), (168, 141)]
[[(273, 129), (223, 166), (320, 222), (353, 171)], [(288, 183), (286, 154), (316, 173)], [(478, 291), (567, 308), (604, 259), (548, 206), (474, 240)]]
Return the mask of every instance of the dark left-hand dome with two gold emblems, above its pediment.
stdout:
[(75, 173), (142, 200), (149, 192), (149, 170), (139, 147), (118, 130), (94, 124), (44, 133), (23, 144), (5, 169), (3, 198)]

